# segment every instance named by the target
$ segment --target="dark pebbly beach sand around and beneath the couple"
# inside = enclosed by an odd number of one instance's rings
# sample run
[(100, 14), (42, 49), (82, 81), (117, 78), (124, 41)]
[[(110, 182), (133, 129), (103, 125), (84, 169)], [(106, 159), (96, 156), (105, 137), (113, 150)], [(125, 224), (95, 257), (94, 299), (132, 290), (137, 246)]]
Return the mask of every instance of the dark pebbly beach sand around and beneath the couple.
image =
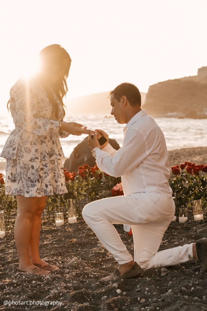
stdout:
[[(169, 164), (184, 161), (207, 163), (207, 147), (169, 151)], [(82, 202), (82, 206), (84, 202)], [(193, 243), (207, 235), (204, 221), (194, 221), (192, 212), (184, 224), (172, 222), (164, 234), (160, 250)], [(42, 225), (40, 252), (45, 261), (57, 264), (60, 271), (41, 277), (18, 271), (12, 226), (0, 241), (0, 310), (38, 310), (39, 306), (4, 306), (3, 301), (61, 301), (60, 306), (42, 306), (42, 310), (206, 310), (207, 273), (200, 274), (196, 261), (161, 269), (149, 269), (142, 278), (103, 283), (99, 279), (113, 272), (117, 262), (84, 223), (56, 228), (54, 221)], [(14, 220), (13, 220), (14, 222)], [(124, 244), (133, 254), (133, 238), (122, 225), (115, 225)], [(115, 286), (113, 286), (117, 283)], [(117, 292), (119, 289), (121, 292)]]

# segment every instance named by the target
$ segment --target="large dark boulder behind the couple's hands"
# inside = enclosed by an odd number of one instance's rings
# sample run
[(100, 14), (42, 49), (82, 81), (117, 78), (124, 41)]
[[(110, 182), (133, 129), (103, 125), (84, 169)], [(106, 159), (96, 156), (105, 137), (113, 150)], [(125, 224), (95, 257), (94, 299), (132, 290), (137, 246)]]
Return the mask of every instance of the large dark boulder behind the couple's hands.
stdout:
[[(120, 148), (115, 139), (109, 138), (109, 143), (116, 150)], [(91, 148), (88, 146), (88, 137), (74, 148), (70, 158), (65, 160), (64, 169), (69, 172), (77, 172), (78, 167), (83, 164), (88, 164), (89, 166), (94, 166), (96, 164), (91, 154)]]

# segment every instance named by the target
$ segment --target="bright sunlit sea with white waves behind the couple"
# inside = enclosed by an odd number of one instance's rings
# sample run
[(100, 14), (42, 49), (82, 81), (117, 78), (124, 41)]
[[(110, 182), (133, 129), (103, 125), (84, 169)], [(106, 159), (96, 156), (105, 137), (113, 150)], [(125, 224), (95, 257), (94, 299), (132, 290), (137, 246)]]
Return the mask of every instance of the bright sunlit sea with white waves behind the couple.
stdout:
[[(168, 150), (204, 147), (207, 146), (207, 119), (191, 119), (191, 118), (154, 118), (162, 129)], [(102, 129), (110, 138), (115, 139), (119, 146), (122, 145), (123, 129), (125, 124), (119, 124), (110, 114), (73, 114), (66, 115), (64, 121), (77, 122), (88, 126), (89, 129)], [(0, 152), (7, 140), (7, 137), (14, 128), (12, 117), (3, 117), (0, 120)], [(87, 135), (73, 136), (61, 138), (61, 145), (65, 158), (69, 158), (70, 154)], [(0, 172), (5, 172), (5, 159), (0, 157)]]

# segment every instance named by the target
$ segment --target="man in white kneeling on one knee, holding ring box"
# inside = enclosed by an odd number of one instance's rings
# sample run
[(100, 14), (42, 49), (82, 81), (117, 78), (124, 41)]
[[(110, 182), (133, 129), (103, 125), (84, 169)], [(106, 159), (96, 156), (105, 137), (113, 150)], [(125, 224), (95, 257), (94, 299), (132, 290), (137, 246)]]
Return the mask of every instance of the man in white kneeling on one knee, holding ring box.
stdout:
[[(117, 86), (110, 92), (110, 102), (111, 115), (118, 123), (126, 123), (122, 147), (114, 150), (108, 135), (98, 129), (93, 139), (90, 132), (88, 144), (102, 171), (121, 176), (124, 195), (91, 202), (83, 209), (84, 220), (119, 263), (115, 272), (101, 281), (135, 278), (142, 269), (177, 265), (193, 258), (200, 261), (201, 272), (205, 272), (207, 239), (158, 252), (175, 212), (163, 132), (141, 109), (141, 95), (133, 84)], [(107, 139), (103, 146), (97, 140), (100, 136)], [(113, 224), (132, 226), (134, 259)]]

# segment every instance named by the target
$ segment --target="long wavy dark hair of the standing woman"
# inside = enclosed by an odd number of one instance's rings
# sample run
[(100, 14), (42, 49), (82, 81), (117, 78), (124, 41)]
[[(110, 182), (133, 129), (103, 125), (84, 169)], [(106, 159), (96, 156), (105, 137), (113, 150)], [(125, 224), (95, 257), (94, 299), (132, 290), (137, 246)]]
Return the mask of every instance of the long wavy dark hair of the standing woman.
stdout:
[[(59, 44), (51, 44), (46, 46), (39, 52), (41, 66), (44, 71), (47, 71), (48, 74), (55, 68), (55, 70), (60, 70), (63, 65), (63, 60), (68, 59), (69, 64), (68, 67), (65, 68), (64, 76), (58, 79), (55, 83), (50, 84), (50, 86), (46, 83), (41, 82), (44, 91), (47, 94), (48, 99), (52, 104), (52, 115), (55, 119), (58, 119), (59, 108), (56, 99), (53, 96), (53, 92), (57, 96), (58, 100), (61, 102), (63, 107), (63, 118), (65, 117), (65, 105), (63, 104), (63, 97), (66, 95), (68, 91), (66, 79), (69, 75), (71, 58), (68, 52)], [(52, 90), (51, 90), (52, 89)], [(11, 88), (12, 90), (12, 88)], [(10, 95), (11, 95), (10, 90)], [(53, 92), (52, 92), (53, 91)], [(9, 102), (7, 103), (7, 109), (9, 110)], [(62, 118), (62, 119), (63, 119)]]

